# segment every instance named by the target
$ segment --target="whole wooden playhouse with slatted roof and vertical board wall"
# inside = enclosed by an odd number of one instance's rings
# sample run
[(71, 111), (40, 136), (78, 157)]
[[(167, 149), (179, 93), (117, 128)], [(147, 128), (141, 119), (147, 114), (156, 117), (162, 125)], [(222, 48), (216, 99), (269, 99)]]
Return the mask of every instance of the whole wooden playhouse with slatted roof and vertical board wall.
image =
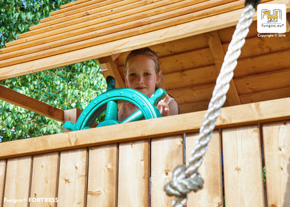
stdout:
[[(254, 15), (199, 169), (204, 188), (187, 206), (290, 206), (290, 2), (262, 3), (286, 4), (287, 33), (261, 37)], [(1, 143), (0, 205), (171, 206), (163, 187), (192, 151), (243, 6), (78, 0), (7, 43), (0, 80), (98, 59), (119, 87), (128, 52), (151, 47), (183, 114)], [(57, 121), (79, 116), (5, 86), (0, 98)]]

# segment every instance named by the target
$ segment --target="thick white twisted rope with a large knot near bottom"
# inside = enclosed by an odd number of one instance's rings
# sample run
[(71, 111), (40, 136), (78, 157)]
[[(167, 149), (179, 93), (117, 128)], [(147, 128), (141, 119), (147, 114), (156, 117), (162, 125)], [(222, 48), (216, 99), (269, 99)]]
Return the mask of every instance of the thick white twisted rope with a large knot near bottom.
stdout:
[(227, 91), (229, 90), (229, 82), (234, 76), (234, 69), (237, 65), (238, 56), (241, 54), (241, 48), (245, 43), (245, 38), (252, 24), (252, 16), (259, 1), (247, 0), (245, 8), (241, 14), (241, 18), (236, 25), (236, 30), (229, 43), (227, 54), (224, 56), (224, 63), (217, 77), (213, 97), (208, 105), (204, 123), (199, 130), (197, 143), (191, 152), (188, 164), (183, 164), (173, 171), (172, 181), (165, 185), (167, 195), (174, 195), (176, 198), (172, 201), (172, 206), (183, 207), (186, 205), (186, 195), (190, 191), (197, 192), (204, 184), (197, 170), (199, 169), (203, 156), (206, 153), (208, 142), (215, 128), (216, 118), (220, 116), (222, 105), (227, 99)]

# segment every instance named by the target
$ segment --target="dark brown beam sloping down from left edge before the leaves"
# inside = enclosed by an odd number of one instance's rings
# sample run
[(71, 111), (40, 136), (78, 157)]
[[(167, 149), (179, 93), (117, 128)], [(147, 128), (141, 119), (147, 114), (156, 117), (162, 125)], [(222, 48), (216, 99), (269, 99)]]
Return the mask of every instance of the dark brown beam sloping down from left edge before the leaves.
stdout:
[(37, 114), (63, 122), (63, 110), (8, 89), (5, 86), (0, 86), (0, 99), (28, 109), (31, 112), (36, 112)]

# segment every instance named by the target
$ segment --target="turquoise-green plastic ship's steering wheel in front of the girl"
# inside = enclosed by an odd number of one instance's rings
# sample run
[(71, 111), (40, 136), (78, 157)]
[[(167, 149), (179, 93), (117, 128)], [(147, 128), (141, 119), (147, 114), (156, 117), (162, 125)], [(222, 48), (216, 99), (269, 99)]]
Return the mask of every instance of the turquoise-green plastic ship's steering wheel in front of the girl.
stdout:
[[(105, 121), (99, 123), (97, 127), (128, 123), (131, 121), (138, 121), (142, 118), (149, 119), (161, 117), (156, 105), (162, 98), (165, 98), (165, 90), (158, 89), (151, 98), (148, 98), (148, 96), (134, 89), (114, 88), (114, 77), (107, 77), (107, 92), (98, 95), (97, 98), (89, 103), (77, 119), (77, 123), (66, 121), (66, 123), (64, 123), (64, 128), (73, 131), (89, 129), (96, 121), (96, 118), (98, 118), (105, 109)], [(138, 110), (128, 118), (125, 118), (125, 120), (118, 121), (118, 102), (131, 102), (138, 107)]]

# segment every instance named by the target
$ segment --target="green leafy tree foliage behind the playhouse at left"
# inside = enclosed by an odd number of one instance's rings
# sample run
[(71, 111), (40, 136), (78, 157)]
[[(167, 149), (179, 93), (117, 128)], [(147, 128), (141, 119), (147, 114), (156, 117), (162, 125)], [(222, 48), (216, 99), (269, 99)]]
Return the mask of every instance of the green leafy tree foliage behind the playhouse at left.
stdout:
[[(29, 31), (68, 0), (0, 0), (1, 48)], [(16, 26), (15, 26), (16, 25)], [(1, 82), (3, 86), (60, 109), (84, 109), (105, 91), (106, 83), (96, 60), (55, 68)], [(0, 139), (10, 141), (62, 132), (63, 123), (0, 100)]]

